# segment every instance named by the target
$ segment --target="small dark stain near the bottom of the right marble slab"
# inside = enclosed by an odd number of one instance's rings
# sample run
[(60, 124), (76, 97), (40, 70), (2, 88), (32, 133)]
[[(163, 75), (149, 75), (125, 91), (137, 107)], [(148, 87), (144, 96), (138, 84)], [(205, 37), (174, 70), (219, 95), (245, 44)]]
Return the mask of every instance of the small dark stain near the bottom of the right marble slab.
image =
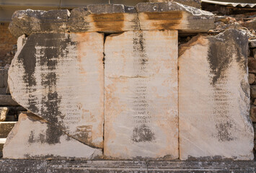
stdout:
[(232, 123), (227, 121), (225, 123), (216, 124), (216, 129), (218, 130), (217, 137), (219, 141), (226, 142), (226, 141), (233, 141), (234, 138), (230, 133), (231, 128), (233, 127)]

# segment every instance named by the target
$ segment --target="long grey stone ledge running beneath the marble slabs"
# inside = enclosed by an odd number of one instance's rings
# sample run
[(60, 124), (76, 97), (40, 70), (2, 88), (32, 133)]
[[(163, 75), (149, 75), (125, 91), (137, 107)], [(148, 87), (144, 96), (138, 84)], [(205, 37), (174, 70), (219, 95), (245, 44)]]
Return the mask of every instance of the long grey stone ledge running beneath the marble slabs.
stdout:
[(255, 172), (256, 161), (87, 161), (0, 159), (0, 172)]

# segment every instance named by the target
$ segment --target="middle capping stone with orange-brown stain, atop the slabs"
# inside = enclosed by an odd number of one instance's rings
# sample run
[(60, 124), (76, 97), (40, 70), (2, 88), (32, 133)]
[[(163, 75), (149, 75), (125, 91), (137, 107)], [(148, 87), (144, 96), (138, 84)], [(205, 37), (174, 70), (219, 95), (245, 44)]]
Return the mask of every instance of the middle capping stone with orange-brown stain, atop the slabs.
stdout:
[(139, 30), (138, 14), (133, 6), (92, 4), (71, 11), (71, 32), (120, 32)]

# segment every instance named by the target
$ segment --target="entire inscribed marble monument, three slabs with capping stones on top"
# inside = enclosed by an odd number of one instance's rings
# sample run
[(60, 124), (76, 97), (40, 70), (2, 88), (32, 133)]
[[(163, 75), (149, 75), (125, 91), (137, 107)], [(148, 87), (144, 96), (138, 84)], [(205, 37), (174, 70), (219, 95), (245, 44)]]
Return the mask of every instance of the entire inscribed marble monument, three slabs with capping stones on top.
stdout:
[(247, 32), (209, 35), (216, 18), (196, 7), (15, 12), (8, 89), (27, 112), (4, 159), (254, 159)]

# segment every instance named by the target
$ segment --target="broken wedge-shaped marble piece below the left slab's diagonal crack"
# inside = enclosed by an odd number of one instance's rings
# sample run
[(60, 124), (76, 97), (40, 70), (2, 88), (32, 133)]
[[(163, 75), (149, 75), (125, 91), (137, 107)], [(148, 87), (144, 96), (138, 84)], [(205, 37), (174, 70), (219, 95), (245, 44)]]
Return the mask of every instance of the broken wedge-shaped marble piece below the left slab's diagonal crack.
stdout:
[(94, 159), (101, 156), (102, 151), (70, 138), (56, 125), (28, 113), (19, 115), (19, 121), (6, 138), (3, 155), (5, 159)]

